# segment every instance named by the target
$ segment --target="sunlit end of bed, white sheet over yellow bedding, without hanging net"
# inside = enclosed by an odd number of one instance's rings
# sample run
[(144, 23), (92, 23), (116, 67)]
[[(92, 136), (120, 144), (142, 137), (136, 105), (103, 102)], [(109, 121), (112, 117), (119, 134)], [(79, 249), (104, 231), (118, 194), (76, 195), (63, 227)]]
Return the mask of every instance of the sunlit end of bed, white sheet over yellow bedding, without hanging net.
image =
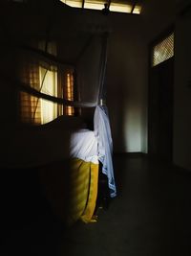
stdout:
[(67, 222), (94, 221), (98, 184), (98, 154), (95, 132), (75, 131), (71, 137), (71, 193)]

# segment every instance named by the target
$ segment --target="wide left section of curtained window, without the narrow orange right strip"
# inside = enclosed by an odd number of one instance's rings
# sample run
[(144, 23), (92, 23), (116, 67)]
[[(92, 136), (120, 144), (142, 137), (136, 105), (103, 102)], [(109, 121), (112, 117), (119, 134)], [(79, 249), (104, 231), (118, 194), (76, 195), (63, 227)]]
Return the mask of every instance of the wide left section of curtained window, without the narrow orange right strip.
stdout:
[[(38, 72), (36, 72), (38, 70)], [(34, 73), (35, 72), (35, 73)], [(29, 70), (29, 77), (25, 81), (32, 88), (42, 93), (57, 97), (57, 72), (42, 66)], [(34, 75), (35, 74), (35, 75)], [(35, 80), (34, 80), (35, 79)], [(33, 86), (35, 84), (35, 86)], [(58, 105), (51, 101), (34, 97), (26, 92), (20, 93), (21, 121), (30, 124), (46, 124), (58, 115)]]

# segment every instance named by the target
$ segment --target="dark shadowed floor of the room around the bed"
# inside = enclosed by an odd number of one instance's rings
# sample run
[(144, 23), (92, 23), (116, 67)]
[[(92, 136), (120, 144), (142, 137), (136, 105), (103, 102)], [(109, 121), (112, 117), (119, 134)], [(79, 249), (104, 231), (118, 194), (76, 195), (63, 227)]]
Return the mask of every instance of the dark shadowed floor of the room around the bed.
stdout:
[(117, 198), (97, 222), (70, 228), (53, 215), (39, 185), (29, 204), (29, 195), (26, 202), (16, 199), (28, 186), (17, 193), (11, 181), (1, 255), (190, 256), (191, 175), (142, 155), (115, 155), (114, 165)]

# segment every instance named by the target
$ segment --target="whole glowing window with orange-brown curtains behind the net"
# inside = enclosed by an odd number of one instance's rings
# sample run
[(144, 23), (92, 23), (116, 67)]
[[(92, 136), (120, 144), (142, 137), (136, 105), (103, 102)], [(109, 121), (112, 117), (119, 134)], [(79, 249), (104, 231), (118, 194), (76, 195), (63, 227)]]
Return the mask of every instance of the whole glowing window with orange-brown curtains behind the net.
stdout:
[[(62, 74), (62, 79), (59, 76)], [(57, 69), (25, 59), (22, 81), (44, 94), (74, 101), (74, 75), (72, 68)], [(27, 92), (20, 92), (20, 116), (22, 123), (46, 124), (59, 115), (74, 115), (73, 106), (63, 106), (37, 98)]]

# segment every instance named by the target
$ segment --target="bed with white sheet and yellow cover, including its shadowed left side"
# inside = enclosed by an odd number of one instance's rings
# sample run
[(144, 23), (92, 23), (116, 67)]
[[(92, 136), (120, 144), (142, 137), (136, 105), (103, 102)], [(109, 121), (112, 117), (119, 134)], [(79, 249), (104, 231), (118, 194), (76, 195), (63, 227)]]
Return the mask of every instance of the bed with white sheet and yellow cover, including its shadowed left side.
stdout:
[[(62, 116), (43, 126), (6, 128), (1, 132), (1, 166), (38, 170), (54, 213), (69, 225), (79, 220), (95, 221), (99, 172), (108, 176), (108, 182), (111, 176), (114, 178), (105, 170), (112, 163), (106, 159), (109, 143), (104, 144), (105, 137), (101, 138), (104, 126), (100, 116), (99, 122), (96, 120), (100, 111), (97, 107), (94, 130), (87, 128), (80, 117)], [(115, 197), (115, 183), (108, 186), (114, 189), (110, 196)]]

